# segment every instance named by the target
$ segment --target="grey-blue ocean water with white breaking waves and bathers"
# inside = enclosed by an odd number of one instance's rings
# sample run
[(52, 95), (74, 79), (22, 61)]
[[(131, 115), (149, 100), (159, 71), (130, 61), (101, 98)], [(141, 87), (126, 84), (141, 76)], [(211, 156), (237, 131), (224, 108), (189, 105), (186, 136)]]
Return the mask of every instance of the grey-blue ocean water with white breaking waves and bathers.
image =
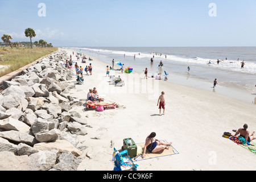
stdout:
[[(143, 73), (148, 68), (148, 75), (164, 71), (168, 81), (177, 84), (202, 87), (212, 90), (214, 78), (218, 85), (228, 88), (225, 94), (247, 102), (256, 98), (256, 47), (72, 47), (83, 53), (98, 57), (112, 65), (112, 60), (120, 61), (125, 67)], [(134, 57), (135, 56), (135, 57)], [(153, 58), (154, 56), (154, 58)], [(150, 59), (153, 58), (151, 64)], [(217, 64), (217, 59), (220, 63)], [(163, 67), (159, 67), (162, 60)], [(209, 61), (211, 64), (208, 64)], [(241, 68), (241, 62), (245, 65)], [(187, 67), (190, 71), (187, 71)], [(115, 65), (115, 68), (119, 68)], [(207, 84), (197, 84), (210, 83)], [(199, 86), (200, 85), (200, 86)], [(217, 89), (217, 87), (216, 87)], [(235, 90), (236, 89), (236, 90)], [(237, 92), (240, 90), (240, 92)], [(215, 90), (214, 90), (215, 92)], [(239, 95), (240, 94), (240, 95)], [(247, 94), (247, 95), (246, 95)]]

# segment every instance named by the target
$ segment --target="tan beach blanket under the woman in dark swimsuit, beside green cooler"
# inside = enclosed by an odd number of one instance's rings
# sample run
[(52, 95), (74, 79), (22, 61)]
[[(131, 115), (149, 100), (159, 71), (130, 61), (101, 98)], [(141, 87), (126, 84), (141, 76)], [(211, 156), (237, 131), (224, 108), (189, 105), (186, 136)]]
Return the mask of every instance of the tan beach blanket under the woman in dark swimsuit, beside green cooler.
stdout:
[[(164, 142), (167, 142), (167, 141), (164, 140)], [(142, 148), (142, 152), (143, 152), (143, 148), (144, 148), (145, 143), (136, 143), (136, 144), (137, 144), (138, 148)], [(170, 148), (168, 150), (164, 149), (164, 150), (156, 152), (156, 153), (151, 153), (151, 152), (146, 151), (145, 158), (144, 159), (139, 158), (137, 161), (146, 160), (146, 159), (153, 159), (153, 158), (160, 158), (160, 157), (163, 157), (163, 156), (170, 156), (170, 155), (175, 155), (175, 154), (179, 154), (179, 152), (173, 146), (170, 146)]]

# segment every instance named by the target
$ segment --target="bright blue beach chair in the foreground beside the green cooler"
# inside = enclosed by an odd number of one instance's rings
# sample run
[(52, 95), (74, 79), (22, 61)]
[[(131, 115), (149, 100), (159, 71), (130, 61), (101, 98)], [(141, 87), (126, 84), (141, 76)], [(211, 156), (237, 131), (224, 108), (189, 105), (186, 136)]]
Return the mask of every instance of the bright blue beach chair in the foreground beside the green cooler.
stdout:
[(113, 159), (114, 171), (137, 171), (138, 164), (134, 164), (127, 150), (119, 152), (114, 148)]

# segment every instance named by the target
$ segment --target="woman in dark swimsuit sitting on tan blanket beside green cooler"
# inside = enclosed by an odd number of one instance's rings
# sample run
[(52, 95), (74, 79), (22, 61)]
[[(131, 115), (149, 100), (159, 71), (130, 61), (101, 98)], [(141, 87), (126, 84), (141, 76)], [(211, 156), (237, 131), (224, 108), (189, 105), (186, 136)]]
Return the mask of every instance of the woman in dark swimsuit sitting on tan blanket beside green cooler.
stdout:
[(142, 158), (144, 158), (146, 155), (146, 149), (152, 153), (156, 153), (164, 149), (168, 150), (169, 147), (167, 146), (170, 146), (172, 144), (172, 142), (166, 143), (163, 140), (155, 139), (155, 135), (156, 135), (155, 132), (152, 132), (150, 135), (147, 136), (146, 142), (143, 148)]

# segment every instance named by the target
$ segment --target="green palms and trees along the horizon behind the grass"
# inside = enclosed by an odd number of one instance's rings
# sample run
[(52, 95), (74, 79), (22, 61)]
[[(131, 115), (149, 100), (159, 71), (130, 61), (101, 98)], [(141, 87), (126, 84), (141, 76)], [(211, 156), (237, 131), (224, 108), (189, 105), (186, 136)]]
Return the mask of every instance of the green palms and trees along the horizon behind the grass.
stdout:
[[(24, 33), (26, 37), (30, 38), (30, 46), (32, 49), (32, 38), (36, 36), (35, 31), (32, 28), (27, 28)], [(11, 48), (13, 48), (13, 46), (17, 48), (19, 47), (18, 42), (11, 43), (11, 40), (13, 39), (11, 35), (3, 34), (1, 39), (3, 40), (4, 43), (9, 44)], [(47, 43), (46, 40), (43, 40), (43, 39), (40, 39), (39, 41), (35, 41), (34, 45), (36, 47), (53, 47), (52, 43)]]

